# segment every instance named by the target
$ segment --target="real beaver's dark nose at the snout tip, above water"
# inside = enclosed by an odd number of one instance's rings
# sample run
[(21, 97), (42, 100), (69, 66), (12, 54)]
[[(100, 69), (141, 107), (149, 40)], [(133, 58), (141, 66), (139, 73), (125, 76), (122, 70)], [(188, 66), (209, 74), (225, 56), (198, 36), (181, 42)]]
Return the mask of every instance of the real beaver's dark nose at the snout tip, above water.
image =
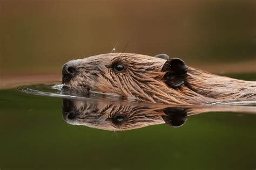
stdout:
[(66, 62), (62, 67), (62, 83), (68, 83), (78, 73), (76, 60)]

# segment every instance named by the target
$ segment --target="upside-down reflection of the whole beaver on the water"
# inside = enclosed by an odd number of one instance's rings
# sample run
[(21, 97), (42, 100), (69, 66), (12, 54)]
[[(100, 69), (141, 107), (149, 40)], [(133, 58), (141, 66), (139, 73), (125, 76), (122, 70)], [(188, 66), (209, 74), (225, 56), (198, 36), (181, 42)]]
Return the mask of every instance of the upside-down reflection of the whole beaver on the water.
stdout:
[(145, 126), (167, 124), (174, 128), (184, 125), (188, 117), (212, 111), (234, 111), (255, 114), (255, 107), (240, 105), (166, 105), (124, 101), (63, 99), (64, 121), (96, 129), (123, 131)]

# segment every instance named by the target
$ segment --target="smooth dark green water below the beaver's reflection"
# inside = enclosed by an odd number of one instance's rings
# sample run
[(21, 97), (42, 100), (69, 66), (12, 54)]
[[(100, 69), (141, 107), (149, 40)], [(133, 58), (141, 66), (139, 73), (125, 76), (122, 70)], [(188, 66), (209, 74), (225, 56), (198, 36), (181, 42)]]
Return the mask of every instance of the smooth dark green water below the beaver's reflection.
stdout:
[(62, 98), (5, 89), (0, 169), (255, 169), (255, 122), (255, 114), (207, 112), (180, 128), (105, 131), (66, 123)]

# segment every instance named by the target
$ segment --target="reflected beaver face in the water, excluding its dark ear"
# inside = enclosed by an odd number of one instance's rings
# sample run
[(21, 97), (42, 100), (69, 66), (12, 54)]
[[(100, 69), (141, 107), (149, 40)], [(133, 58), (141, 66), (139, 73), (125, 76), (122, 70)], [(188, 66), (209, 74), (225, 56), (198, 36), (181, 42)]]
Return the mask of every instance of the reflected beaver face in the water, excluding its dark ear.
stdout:
[(63, 118), (73, 125), (129, 130), (164, 123), (158, 111), (143, 105), (63, 100)]

